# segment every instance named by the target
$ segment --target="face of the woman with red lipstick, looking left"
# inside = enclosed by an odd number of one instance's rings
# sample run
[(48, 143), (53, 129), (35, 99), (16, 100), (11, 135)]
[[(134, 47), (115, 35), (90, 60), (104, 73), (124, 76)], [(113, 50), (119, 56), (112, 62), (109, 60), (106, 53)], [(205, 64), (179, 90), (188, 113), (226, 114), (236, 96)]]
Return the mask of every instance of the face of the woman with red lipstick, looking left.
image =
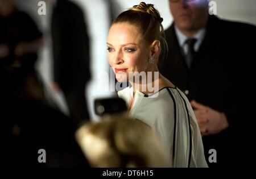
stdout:
[(108, 60), (118, 81), (127, 81), (129, 72), (146, 72), (150, 44), (129, 23), (113, 24), (108, 35)]

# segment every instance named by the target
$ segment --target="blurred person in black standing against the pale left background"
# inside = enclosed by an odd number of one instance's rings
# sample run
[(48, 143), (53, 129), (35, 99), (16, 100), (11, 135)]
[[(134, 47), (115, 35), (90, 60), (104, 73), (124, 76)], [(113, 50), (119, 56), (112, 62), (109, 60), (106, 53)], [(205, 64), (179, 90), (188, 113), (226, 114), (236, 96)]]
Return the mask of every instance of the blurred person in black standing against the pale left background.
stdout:
[(90, 79), (90, 49), (84, 14), (70, 1), (56, 1), (53, 8), (53, 88), (65, 95), (69, 113), (77, 125), (89, 119), (85, 85)]

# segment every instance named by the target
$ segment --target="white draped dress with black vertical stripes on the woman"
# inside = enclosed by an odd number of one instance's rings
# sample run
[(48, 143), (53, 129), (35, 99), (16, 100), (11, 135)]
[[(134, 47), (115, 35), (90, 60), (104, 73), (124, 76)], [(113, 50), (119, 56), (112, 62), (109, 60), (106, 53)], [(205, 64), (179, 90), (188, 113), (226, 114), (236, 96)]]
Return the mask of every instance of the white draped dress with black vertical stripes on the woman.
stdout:
[[(118, 91), (129, 104), (133, 88)], [(174, 167), (208, 167), (195, 114), (187, 97), (178, 89), (166, 87), (149, 97), (136, 91), (131, 118), (141, 120), (155, 131)]]

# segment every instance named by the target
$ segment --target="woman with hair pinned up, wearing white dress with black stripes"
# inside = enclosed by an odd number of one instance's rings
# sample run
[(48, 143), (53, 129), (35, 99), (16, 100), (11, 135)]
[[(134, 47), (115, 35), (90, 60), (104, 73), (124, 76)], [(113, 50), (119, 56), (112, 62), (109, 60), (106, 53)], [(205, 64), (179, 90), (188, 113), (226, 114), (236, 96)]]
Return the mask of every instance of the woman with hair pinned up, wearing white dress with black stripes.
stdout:
[(129, 105), (130, 117), (146, 123), (159, 137), (171, 166), (207, 167), (187, 97), (158, 70), (167, 47), (162, 21), (154, 5), (144, 2), (114, 20), (107, 42), (109, 64), (119, 82), (132, 85), (118, 95)]

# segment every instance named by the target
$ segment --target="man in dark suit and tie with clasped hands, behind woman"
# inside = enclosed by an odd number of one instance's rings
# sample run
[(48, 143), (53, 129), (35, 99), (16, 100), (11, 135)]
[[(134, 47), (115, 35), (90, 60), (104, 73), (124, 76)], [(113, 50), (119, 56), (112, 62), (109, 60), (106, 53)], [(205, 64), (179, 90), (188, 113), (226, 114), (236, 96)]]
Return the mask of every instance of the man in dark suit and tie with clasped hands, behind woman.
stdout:
[(237, 165), (245, 157), (242, 84), (255, 26), (209, 15), (207, 0), (169, 0), (169, 5), (174, 23), (165, 31), (168, 57), (160, 72), (191, 101), (208, 165)]

